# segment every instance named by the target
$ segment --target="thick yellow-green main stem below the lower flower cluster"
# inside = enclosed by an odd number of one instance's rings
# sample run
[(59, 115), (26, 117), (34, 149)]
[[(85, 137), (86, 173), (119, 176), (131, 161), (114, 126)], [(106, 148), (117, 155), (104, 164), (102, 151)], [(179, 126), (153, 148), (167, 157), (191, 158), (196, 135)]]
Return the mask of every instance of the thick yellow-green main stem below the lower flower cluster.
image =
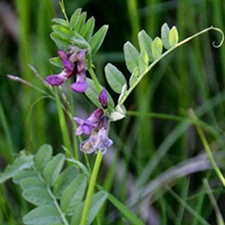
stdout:
[(102, 161), (102, 152), (98, 151), (96, 160), (95, 160), (95, 165), (94, 165), (94, 169), (91, 175), (91, 180), (89, 183), (89, 187), (88, 187), (88, 192), (87, 192), (87, 197), (85, 200), (85, 204), (84, 204), (84, 209), (83, 209), (83, 213), (82, 213), (82, 217), (81, 217), (81, 222), (80, 225), (85, 225), (86, 224), (86, 219), (87, 219), (87, 215), (88, 215), (88, 210), (91, 204), (91, 198), (94, 192), (94, 187), (95, 187), (95, 182), (98, 176), (98, 171), (101, 165), (101, 161)]

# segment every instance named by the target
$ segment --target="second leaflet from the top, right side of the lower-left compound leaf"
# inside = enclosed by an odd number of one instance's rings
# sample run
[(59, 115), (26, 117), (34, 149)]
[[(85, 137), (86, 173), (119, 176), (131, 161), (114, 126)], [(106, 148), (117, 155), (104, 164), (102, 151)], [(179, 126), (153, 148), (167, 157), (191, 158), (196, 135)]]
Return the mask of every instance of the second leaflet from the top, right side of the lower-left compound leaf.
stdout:
[(65, 156), (61, 153), (54, 156), (51, 161), (45, 166), (43, 176), (47, 184), (52, 185), (63, 167)]

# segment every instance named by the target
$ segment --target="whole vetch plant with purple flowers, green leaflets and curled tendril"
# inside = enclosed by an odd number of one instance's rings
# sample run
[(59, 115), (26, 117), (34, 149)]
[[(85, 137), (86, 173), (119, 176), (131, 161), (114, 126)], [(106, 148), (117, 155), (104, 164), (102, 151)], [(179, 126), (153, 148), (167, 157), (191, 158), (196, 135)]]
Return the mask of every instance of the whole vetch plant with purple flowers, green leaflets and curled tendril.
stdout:
[[(0, 182), (12, 178), (13, 182), (21, 187), (23, 198), (34, 205), (34, 209), (23, 217), (26, 225), (89, 225), (98, 216), (106, 200), (121, 212), (128, 223), (144, 224), (127, 206), (96, 183), (102, 157), (113, 146), (113, 140), (109, 137), (110, 123), (126, 117), (124, 106), (126, 99), (143, 77), (149, 74), (149, 71), (166, 55), (211, 30), (222, 35), (221, 43), (217, 46), (213, 44), (214, 47), (220, 47), (224, 41), (223, 32), (211, 26), (179, 42), (177, 28), (175, 26), (170, 28), (166, 23), (161, 27), (161, 37), (152, 39), (144, 30), (140, 31), (139, 49), (129, 41), (124, 44), (129, 80), (113, 64), (108, 63), (105, 66), (106, 80), (112, 91), (118, 95), (117, 101), (114, 101), (109, 91), (100, 84), (93, 64), (93, 57), (104, 41), (108, 26), (104, 25), (94, 32), (93, 17), (87, 19), (86, 13), (77, 9), (68, 19), (63, 1), (60, 5), (65, 18), (53, 19), (51, 34), (58, 48), (58, 56), (50, 59), (50, 62), (59, 69), (59, 73), (42, 78), (43, 84), (48, 89), (40, 90), (34, 84), (12, 75), (9, 75), (9, 78), (36, 88), (60, 105), (75, 127), (74, 135), (77, 143), (79, 142), (80, 151), (96, 154), (94, 167), (90, 170), (89, 165), (74, 158), (73, 149), (64, 147), (66, 154), (58, 153), (53, 156), (52, 147), (44, 144), (34, 155), (22, 152), (0, 175)], [(84, 93), (90, 103), (96, 106), (87, 118), (72, 115), (59, 98), (61, 92), (58, 86), (65, 85), (71, 80), (70, 90), (73, 94)], [(60, 120), (64, 121), (65, 118), (60, 115)], [(69, 138), (67, 141), (71, 142)], [(87, 159), (87, 156), (85, 157)], [(95, 191), (95, 188), (98, 191)]]

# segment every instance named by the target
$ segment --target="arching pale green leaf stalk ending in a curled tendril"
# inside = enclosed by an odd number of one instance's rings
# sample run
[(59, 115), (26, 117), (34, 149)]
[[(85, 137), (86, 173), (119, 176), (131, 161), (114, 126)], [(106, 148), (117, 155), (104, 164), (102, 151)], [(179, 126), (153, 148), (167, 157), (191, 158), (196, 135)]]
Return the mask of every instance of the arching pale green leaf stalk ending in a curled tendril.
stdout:
[(125, 102), (125, 100), (127, 99), (127, 97), (130, 95), (130, 93), (133, 91), (133, 89), (138, 85), (138, 83), (142, 80), (142, 78), (143, 78), (143, 77), (144, 77), (144, 76), (152, 69), (152, 67), (155, 66), (155, 65), (156, 65), (163, 57), (165, 57), (166, 55), (168, 55), (168, 54), (169, 54), (170, 52), (172, 52), (174, 49), (176, 49), (176, 48), (180, 47), (181, 45), (185, 44), (186, 42), (190, 41), (191, 39), (193, 39), (193, 38), (195, 38), (195, 37), (197, 37), (197, 36), (200, 36), (201, 34), (204, 34), (204, 33), (208, 32), (208, 31), (210, 31), (210, 30), (215, 30), (215, 31), (219, 32), (219, 33), (222, 35), (222, 40), (220, 41), (220, 43), (219, 43), (218, 45), (215, 44), (215, 41), (212, 43), (213, 47), (219, 48), (219, 47), (223, 44), (223, 42), (224, 42), (224, 33), (223, 33), (223, 31), (220, 30), (219, 28), (216, 28), (216, 27), (213, 27), (213, 26), (208, 27), (208, 28), (206, 28), (206, 29), (204, 29), (204, 30), (202, 30), (202, 31), (200, 31), (200, 32), (198, 32), (198, 33), (196, 33), (196, 34), (194, 34), (194, 35), (192, 35), (192, 36), (190, 36), (190, 37), (184, 39), (183, 41), (177, 43), (177, 45), (175, 45), (174, 47), (172, 47), (172, 48), (170, 48), (169, 50), (167, 50), (166, 52), (164, 52), (164, 53), (163, 53), (159, 58), (157, 58), (155, 61), (153, 61), (153, 62), (149, 65), (149, 67), (148, 67), (143, 73), (141, 73), (140, 76), (138, 76), (137, 82), (136, 82), (133, 86), (131, 86), (131, 87), (126, 91), (126, 93), (125, 93), (124, 96), (120, 99), (120, 101), (119, 101), (118, 104), (119, 104), (119, 105), (122, 105), (122, 104)]

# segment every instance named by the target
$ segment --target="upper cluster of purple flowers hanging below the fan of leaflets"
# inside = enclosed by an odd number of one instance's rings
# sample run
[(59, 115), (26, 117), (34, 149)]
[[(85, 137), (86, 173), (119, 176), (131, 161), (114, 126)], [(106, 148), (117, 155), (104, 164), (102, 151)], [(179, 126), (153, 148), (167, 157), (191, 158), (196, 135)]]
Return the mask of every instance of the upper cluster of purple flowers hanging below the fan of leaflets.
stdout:
[(86, 50), (78, 50), (76, 47), (72, 47), (69, 53), (59, 49), (58, 56), (62, 61), (63, 70), (59, 74), (52, 74), (46, 77), (45, 80), (50, 85), (59, 86), (76, 74), (76, 82), (71, 84), (71, 88), (76, 92), (85, 92), (87, 89), (85, 68), (86, 53)]

